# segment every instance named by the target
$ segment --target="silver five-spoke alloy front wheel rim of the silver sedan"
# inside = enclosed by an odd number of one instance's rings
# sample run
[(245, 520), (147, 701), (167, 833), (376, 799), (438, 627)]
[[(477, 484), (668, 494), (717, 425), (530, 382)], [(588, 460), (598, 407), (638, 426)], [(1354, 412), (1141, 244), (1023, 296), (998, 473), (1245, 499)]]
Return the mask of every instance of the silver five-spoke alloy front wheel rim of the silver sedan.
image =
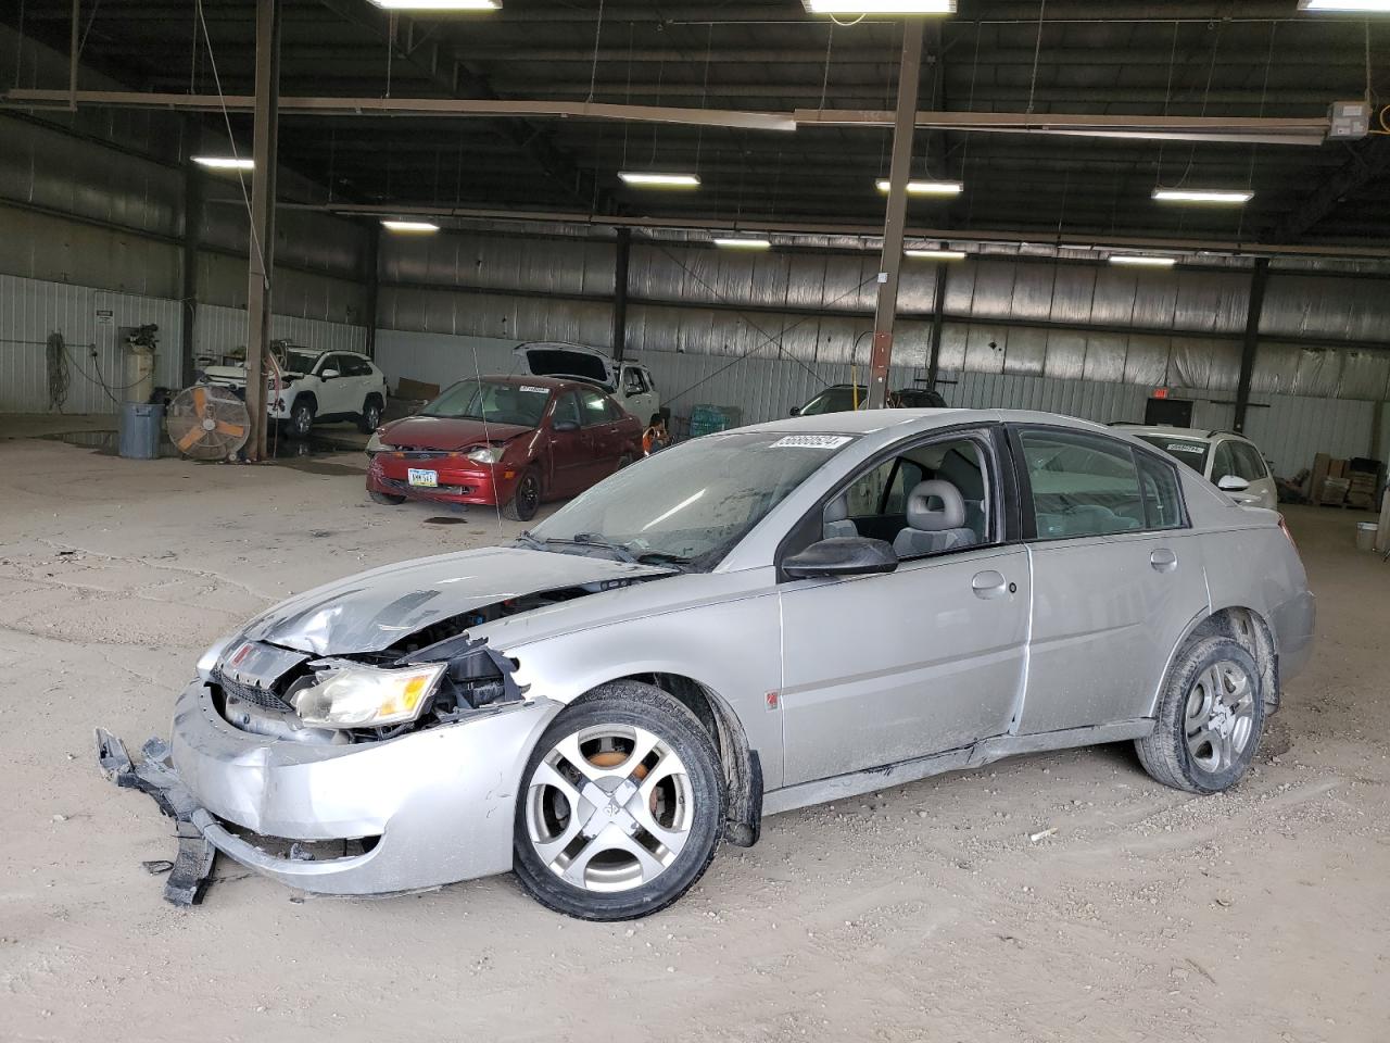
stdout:
[(695, 805), (676, 751), (632, 725), (582, 729), (537, 763), (525, 826), (541, 862), (587, 891), (626, 891), (666, 872), (689, 839)]

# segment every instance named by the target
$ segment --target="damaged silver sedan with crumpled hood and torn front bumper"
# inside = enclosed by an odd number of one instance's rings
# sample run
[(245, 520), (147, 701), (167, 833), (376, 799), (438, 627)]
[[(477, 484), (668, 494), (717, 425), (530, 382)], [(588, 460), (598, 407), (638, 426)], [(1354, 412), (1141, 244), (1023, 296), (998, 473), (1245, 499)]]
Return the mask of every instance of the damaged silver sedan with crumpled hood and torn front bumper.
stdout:
[(302, 594), (210, 648), (117, 782), (310, 891), (514, 871), (639, 916), (762, 816), (1011, 754), (1133, 740), (1234, 786), (1314, 601), (1272, 510), (1113, 430), (883, 410), (709, 435), (507, 547)]

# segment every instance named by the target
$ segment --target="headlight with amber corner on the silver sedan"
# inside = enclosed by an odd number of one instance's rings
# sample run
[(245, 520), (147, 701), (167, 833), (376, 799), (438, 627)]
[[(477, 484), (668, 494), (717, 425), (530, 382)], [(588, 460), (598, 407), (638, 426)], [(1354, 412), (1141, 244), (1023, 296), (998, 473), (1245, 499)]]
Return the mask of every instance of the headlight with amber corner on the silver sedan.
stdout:
[(439, 684), (448, 663), (382, 670), (375, 666), (335, 663), (314, 684), (289, 701), (306, 725), (321, 727), (382, 727), (420, 716)]

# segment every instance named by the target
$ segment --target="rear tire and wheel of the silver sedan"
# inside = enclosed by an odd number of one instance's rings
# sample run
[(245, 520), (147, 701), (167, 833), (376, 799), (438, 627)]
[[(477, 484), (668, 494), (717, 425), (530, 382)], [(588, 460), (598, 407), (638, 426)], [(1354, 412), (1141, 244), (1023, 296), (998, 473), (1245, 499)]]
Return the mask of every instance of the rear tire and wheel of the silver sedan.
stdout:
[(1154, 731), (1134, 741), (1155, 780), (1188, 793), (1222, 793), (1250, 769), (1265, 726), (1262, 673), (1229, 637), (1188, 644), (1173, 659)]

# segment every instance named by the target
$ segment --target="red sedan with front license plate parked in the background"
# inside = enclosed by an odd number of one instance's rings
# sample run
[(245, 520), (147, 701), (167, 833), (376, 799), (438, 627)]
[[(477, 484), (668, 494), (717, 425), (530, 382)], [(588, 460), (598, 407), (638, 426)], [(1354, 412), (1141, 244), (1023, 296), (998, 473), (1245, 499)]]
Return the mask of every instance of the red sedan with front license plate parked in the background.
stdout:
[(642, 424), (602, 391), (550, 377), (459, 381), (367, 444), (367, 491), (406, 499), (499, 505), (530, 520), (642, 455)]

